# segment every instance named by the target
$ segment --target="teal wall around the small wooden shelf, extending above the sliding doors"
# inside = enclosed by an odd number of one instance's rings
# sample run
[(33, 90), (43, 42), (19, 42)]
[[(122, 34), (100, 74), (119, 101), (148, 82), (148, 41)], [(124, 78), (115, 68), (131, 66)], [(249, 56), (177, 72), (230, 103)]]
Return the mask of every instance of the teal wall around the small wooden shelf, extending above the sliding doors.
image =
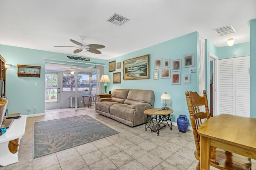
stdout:
[[(67, 54), (53, 53), (49, 51), (40, 51), (40, 50), (34, 50), (34, 49), (26, 49), (26, 48), (20, 48), (20, 47), (12, 47), (7, 45), (0, 45), (0, 53), (2, 57), (4, 57), (4, 59), (6, 60), (6, 63), (13, 65), (10, 68), (8, 68), (8, 70), (6, 70), (6, 97), (9, 100), (8, 102), (9, 113), (21, 112), (22, 114), (33, 114), (34, 106), (37, 107), (36, 113), (44, 113), (44, 106), (45, 106), (44, 105), (44, 68), (45, 68), (45, 62), (46, 62), (44, 58), (71, 61), (70, 59), (68, 59), (68, 57), (66, 57)], [(79, 56), (75, 56), (75, 57), (79, 57)], [(56, 62), (56, 61), (52, 61), (52, 62)], [(88, 61), (79, 61), (79, 62), (106, 64), (106, 60), (93, 59), (93, 58), (90, 59), (89, 62)], [(57, 63), (67, 63), (67, 62), (57, 62)], [(40, 78), (18, 77), (17, 64), (41, 66)], [(78, 63), (74, 63), (74, 65), (86, 66), (86, 64), (78, 64)], [(39, 86), (35, 86), (35, 82), (38, 82)], [(29, 112), (26, 111), (27, 107), (30, 107)]]

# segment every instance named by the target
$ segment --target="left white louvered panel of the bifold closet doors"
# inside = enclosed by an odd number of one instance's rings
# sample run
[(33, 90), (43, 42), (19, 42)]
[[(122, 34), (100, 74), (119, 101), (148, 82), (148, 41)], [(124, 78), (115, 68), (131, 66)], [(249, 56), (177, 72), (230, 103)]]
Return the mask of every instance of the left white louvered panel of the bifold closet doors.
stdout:
[(235, 60), (219, 60), (219, 113), (233, 115), (235, 110)]

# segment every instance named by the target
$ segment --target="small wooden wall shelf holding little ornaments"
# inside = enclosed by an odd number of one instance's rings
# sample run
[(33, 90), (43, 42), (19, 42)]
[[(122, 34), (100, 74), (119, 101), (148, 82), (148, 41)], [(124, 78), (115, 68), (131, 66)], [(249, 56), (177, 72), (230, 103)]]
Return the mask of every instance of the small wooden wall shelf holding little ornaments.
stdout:
[(17, 64), (17, 72), (18, 77), (40, 77), (41, 66), (27, 66)]

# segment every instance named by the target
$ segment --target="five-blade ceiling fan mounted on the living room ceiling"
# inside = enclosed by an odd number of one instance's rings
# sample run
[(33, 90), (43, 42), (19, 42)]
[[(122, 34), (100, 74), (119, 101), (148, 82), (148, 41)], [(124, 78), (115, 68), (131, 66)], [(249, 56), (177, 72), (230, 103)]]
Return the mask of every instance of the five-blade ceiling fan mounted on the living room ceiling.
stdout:
[[(78, 45), (76, 48), (78, 48), (78, 49), (76, 49), (75, 51), (74, 51), (74, 53), (76, 54), (76, 53), (80, 53), (81, 51), (83, 51), (83, 49), (85, 49), (85, 50), (87, 50), (88, 52), (90, 52), (90, 53), (94, 53), (94, 54), (101, 54), (101, 52), (98, 50), (98, 49), (103, 49), (103, 48), (105, 48), (105, 46), (104, 45), (100, 45), (100, 44), (86, 44), (85, 42), (84, 42), (84, 40), (85, 40), (85, 37), (84, 36), (80, 36), (80, 39), (82, 40), (82, 42), (78, 42), (78, 41), (75, 41), (75, 40), (73, 40), (73, 39), (70, 39), (70, 41), (72, 42), (72, 43), (75, 43), (76, 45)], [(75, 47), (75, 46), (54, 46), (54, 47)]]

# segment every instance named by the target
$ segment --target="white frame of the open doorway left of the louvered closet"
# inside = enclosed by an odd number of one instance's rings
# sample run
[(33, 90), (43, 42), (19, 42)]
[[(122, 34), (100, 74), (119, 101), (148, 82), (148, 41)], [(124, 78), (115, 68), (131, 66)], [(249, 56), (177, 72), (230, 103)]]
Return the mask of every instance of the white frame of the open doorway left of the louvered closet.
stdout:
[(212, 76), (210, 75), (210, 61), (213, 61), (213, 116), (216, 116), (219, 113), (219, 58), (212, 53), (209, 53), (208, 82), (210, 82), (210, 77)]

